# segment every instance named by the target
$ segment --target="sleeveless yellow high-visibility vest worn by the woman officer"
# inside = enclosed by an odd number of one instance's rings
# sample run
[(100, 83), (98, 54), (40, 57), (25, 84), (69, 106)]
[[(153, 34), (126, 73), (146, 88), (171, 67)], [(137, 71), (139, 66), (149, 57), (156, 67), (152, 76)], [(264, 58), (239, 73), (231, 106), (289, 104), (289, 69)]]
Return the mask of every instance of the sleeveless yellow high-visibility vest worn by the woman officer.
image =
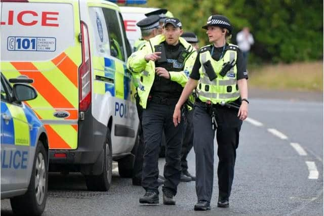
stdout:
[[(237, 67), (236, 64), (223, 77), (219, 74), (222, 66), (226, 62), (234, 62), (237, 60), (237, 46), (229, 44), (226, 47), (224, 56), (216, 61), (212, 58), (209, 52), (209, 46), (200, 49), (200, 64), (199, 68), (200, 79), (197, 85), (197, 96), (203, 101), (210, 101), (213, 104), (221, 102), (231, 102), (239, 98), (239, 90), (237, 87)], [(217, 77), (211, 81), (205, 71), (203, 64), (208, 60), (211, 61), (212, 67)]]

